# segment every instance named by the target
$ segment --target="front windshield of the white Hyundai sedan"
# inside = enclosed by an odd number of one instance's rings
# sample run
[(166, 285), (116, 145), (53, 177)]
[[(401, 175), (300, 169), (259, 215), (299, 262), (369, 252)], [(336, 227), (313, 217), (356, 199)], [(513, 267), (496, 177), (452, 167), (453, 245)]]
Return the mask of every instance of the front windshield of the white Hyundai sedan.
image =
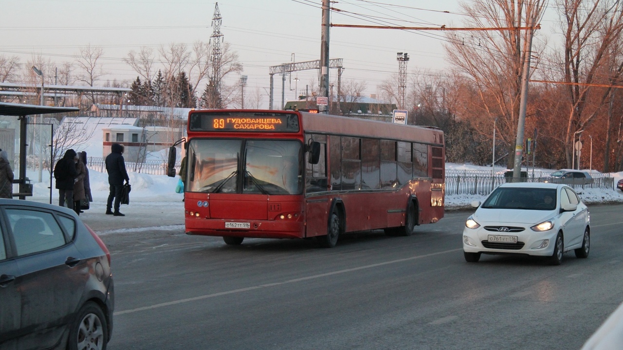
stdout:
[(482, 204), (486, 209), (554, 210), (556, 189), (498, 187)]

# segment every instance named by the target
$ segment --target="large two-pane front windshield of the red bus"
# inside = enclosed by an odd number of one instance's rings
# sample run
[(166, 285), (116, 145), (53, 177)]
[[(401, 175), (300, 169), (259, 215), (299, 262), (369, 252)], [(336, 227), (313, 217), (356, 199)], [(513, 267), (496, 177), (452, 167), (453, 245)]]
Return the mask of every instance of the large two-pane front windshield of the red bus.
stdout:
[(301, 194), (302, 149), (297, 140), (193, 139), (186, 191)]

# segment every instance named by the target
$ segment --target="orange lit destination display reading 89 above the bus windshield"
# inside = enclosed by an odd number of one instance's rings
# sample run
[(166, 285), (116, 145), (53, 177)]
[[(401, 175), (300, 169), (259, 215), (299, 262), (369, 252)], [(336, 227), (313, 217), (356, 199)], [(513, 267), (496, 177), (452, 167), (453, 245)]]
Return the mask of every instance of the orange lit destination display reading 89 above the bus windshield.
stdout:
[(298, 132), (298, 116), (278, 113), (191, 113), (191, 131)]

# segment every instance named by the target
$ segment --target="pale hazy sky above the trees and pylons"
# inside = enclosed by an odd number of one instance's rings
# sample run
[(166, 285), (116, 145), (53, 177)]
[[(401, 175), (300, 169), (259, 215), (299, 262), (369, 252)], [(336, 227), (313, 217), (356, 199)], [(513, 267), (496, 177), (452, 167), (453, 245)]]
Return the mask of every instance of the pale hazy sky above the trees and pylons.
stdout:
[[(41, 55), (60, 65), (74, 60), (80, 47), (102, 47), (101, 63), (110, 73), (105, 79), (131, 82), (137, 73), (122, 60), (130, 50), (138, 52), (146, 46), (157, 52), (161, 45), (190, 47), (197, 40), (208, 42), (215, 4), (199, 0), (0, 0), (0, 55), (17, 55), (22, 63)], [(320, 59), (321, 0), (221, 0), (218, 6), (223, 40), (239, 54), (242, 74), (249, 77), (245, 95), (254, 90), (268, 94), (270, 66), (292, 59)], [(455, 0), (340, 0), (333, 6), (343, 10), (332, 12), (333, 24), (450, 27), (461, 26), (464, 18)], [(364, 21), (350, 12), (376, 18)], [(541, 32), (549, 34), (551, 29)], [(333, 27), (330, 57), (344, 60), (343, 81), (365, 81), (366, 94), (376, 93), (376, 86), (398, 71), (396, 52), (411, 57), (409, 72), (443, 73), (447, 69), (444, 33)], [(457, 35), (468, 37), (469, 33)], [(295, 87), (304, 92), (305, 85), (317, 83), (317, 74), (315, 70), (293, 73), (286, 81), (285, 99), (295, 98)], [(334, 69), (330, 80), (336, 82)], [(281, 88), (281, 78), (275, 75), (275, 105), (280, 103)], [(263, 108), (268, 107), (265, 100)]]

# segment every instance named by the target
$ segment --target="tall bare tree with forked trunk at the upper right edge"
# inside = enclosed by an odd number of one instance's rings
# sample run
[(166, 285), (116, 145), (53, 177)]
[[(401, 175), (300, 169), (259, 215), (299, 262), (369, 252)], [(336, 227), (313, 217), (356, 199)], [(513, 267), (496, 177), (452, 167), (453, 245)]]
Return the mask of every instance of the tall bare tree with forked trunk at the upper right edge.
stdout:
[[(574, 135), (594, 121), (611, 93), (611, 88), (602, 89), (597, 105), (589, 108), (587, 99), (596, 90), (591, 84), (617, 82), (623, 73), (623, 57), (611, 55), (614, 47), (620, 49), (623, 4), (618, 0), (558, 0), (556, 4), (564, 32), (564, 56), (554, 57), (554, 62), (564, 62), (564, 65), (554, 77), (561, 77), (567, 83), (564, 88), (568, 102), (564, 149), (570, 167)], [(606, 74), (605, 66), (612, 67)]]

